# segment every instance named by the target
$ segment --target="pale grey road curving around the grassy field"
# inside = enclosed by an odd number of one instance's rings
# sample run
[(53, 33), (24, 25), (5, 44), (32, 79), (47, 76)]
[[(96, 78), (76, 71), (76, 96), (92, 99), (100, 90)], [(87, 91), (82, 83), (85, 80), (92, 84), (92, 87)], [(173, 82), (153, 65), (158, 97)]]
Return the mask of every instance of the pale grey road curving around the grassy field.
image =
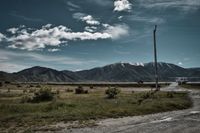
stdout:
[[(176, 83), (162, 91), (185, 91)], [(200, 133), (200, 91), (193, 90), (190, 96), (194, 106), (187, 110), (158, 113), (145, 116), (106, 119), (96, 127), (63, 129), (72, 133)]]

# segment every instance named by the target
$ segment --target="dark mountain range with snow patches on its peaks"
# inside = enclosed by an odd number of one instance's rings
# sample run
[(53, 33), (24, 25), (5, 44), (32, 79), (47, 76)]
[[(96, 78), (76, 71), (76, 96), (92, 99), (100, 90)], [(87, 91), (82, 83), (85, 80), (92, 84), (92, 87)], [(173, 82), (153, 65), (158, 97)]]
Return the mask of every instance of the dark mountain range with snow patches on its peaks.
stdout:
[[(15, 73), (0, 72), (0, 81), (12, 82), (137, 82), (154, 81), (154, 63), (114, 63), (82, 71), (58, 71), (35, 66)], [(158, 63), (159, 81), (175, 81), (176, 77), (200, 80), (200, 68), (182, 68), (171, 63)]]

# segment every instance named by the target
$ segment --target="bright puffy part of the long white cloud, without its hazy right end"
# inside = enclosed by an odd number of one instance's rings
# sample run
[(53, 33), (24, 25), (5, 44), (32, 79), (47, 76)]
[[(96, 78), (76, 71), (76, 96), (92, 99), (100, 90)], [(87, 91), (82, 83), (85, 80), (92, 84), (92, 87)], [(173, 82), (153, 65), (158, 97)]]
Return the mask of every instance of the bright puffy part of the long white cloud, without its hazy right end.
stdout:
[(62, 25), (51, 27), (50, 24), (47, 24), (38, 30), (29, 31), (27, 28), (21, 28), (13, 36), (7, 37), (6, 41), (10, 44), (10, 48), (32, 51), (43, 49), (46, 46), (58, 47), (67, 41), (111, 38), (112, 36), (106, 32), (73, 32)]

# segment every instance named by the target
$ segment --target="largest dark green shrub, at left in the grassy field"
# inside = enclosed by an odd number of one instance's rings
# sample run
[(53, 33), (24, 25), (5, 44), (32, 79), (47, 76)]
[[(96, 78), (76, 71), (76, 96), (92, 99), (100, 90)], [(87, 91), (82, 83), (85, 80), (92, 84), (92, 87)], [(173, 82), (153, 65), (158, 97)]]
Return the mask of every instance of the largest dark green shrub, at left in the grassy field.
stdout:
[(54, 95), (49, 88), (42, 88), (39, 91), (34, 93), (33, 98), (30, 102), (38, 103), (38, 102), (45, 102), (53, 100)]

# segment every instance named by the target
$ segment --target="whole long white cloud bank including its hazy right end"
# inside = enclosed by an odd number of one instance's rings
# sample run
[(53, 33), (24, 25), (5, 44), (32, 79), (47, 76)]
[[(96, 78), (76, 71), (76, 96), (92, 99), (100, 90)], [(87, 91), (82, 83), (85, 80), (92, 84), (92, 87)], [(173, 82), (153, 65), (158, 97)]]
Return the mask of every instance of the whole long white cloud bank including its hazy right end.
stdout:
[[(88, 20), (88, 17), (85, 20)], [(19, 28), (10, 28), (7, 31), (12, 34), (5, 36), (0, 33), (0, 41), (5, 41), (9, 48), (33, 51), (53, 47), (48, 51), (56, 52), (58, 51), (57, 47), (67, 44), (69, 41), (119, 39), (128, 35), (129, 27), (125, 24), (113, 26), (101, 24), (99, 27), (86, 26), (84, 31), (74, 32), (63, 25), (53, 27), (51, 24), (47, 24), (40, 29), (20, 26)]]

